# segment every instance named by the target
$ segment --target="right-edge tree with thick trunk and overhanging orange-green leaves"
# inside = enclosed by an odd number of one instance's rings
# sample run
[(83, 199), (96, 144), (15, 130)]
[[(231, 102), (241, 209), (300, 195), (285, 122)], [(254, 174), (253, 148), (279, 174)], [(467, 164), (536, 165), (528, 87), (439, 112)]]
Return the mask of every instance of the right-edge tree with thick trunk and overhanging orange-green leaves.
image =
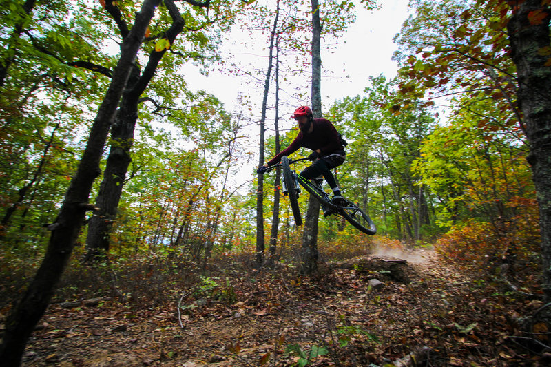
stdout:
[[(542, 286), (551, 299), (550, 1), (424, 0), (415, 6), (417, 17), (404, 23), (399, 38), (408, 48), (401, 59), (410, 81), (402, 90), (492, 98), (508, 114), (499, 129), (526, 135), (539, 202)], [(486, 116), (477, 128), (495, 125)]]

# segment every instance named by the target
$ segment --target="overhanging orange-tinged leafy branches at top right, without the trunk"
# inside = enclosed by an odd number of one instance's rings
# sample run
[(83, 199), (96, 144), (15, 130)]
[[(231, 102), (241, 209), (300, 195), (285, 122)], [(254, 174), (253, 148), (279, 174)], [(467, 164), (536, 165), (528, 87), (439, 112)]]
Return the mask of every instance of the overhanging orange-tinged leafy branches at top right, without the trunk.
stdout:
[[(465, 94), (472, 101), (491, 101), (503, 125), (519, 123), (515, 111), (515, 67), (506, 36), (510, 8), (503, 1), (416, 1), (397, 36), (395, 59), (404, 77), (404, 95), (433, 100), (443, 94)], [(488, 111), (489, 112), (489, 111)], [(485, 113), (488, 121), (493, 115)], [(488, 129), (486, 124), (479, 127)]]

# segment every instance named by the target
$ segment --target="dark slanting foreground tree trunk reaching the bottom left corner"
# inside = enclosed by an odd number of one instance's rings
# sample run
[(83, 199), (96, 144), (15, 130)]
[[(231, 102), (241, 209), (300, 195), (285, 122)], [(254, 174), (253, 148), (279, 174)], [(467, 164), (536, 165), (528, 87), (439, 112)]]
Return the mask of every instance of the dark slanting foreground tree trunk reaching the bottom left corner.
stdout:
[(141, 46), (145, 30), (159, 0), (145, 0), (130, 34), (121, 45), (121, 57), (115, 67), (109, 89), (103, 98), (90, 130), (90, 136), (79, 167), (74, 174), (56, 222), (44, 259), (23, 297), (6, 319), (6, 330), (0, 349), (3, 366), (19, 366), (25, 344), (34, 326), (50, 303), (56, 284), (69, 262), (76, 238), (84, 222), (90, 190), (100, 174), (99, 163), (107, 133), (126, 85), (130, 70)]

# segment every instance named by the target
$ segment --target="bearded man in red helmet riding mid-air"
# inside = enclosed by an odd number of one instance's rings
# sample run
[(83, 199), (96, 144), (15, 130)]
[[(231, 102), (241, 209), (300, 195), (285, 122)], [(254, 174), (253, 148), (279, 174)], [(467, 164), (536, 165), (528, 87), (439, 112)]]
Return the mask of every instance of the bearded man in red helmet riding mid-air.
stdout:
[[(312, 110), (308, 106), (295, 109), (293, 118), (297, 120), (300, 129), (298, 136), (289, 147), (263, 166), (258, 167), (256, 172), (264, 174), (268, 167), (278, 163), (282, 156), (289, 156), (300, 147), (311, 149), (312, 153), (308, 156), (308, 159), (312, 161), (312, 165), (306, 167), (304, 171), (300, 172), (300, 175), (308, 180), (322, 175), (333, 190), (331, 201), (333, 204), (339, 205), (344, 201), (344, 198), (341, 196), (335, 177), (331, 174), (331, 169), (344, 163), (346, 152), (337, 129), (331, 121), (325, 118), (313, 118)], [(329, 216), (332, 213), (328, 208), (323, 209), (324, 216)]]

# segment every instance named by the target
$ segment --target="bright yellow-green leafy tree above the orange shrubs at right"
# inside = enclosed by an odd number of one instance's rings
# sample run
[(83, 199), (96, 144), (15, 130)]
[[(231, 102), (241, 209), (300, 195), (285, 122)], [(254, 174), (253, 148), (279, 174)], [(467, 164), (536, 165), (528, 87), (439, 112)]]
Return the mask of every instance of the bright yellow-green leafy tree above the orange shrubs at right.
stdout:
[(472, 103), (471, 109), (436, 129), (413, 165), (439, 197), (442, 226), (472, 216), (497, 225), (516, 215), (518, 208), (508, 205), (512, 200), (535, 197), (526, 146), (506, 126), (477, 128), (488, 124), (481, 118), (487, 103)]

